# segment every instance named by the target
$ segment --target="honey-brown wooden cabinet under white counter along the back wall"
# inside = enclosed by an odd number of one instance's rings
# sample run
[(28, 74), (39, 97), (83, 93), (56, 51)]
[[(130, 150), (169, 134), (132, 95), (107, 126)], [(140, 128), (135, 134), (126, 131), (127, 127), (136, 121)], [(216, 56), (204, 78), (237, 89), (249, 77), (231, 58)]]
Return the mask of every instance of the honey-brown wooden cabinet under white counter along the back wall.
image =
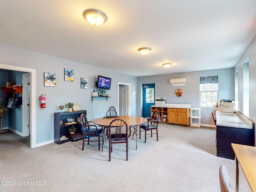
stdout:
[(189, 108), (151, 107), (151, 114), (155, 110), (158, 110), (160, 113), (160, 122), (190, 125)]

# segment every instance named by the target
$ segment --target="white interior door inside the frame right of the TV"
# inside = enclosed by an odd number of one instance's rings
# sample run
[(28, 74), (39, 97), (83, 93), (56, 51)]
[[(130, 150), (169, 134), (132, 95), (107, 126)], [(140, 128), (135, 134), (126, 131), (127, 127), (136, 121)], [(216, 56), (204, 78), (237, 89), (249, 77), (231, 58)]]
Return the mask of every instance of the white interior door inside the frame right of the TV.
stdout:
[(119, 115), (126, 116), (128, 115), (127, 111), (127, 94), (128, 94), (128, 86), (120, 85), (119, 86)]

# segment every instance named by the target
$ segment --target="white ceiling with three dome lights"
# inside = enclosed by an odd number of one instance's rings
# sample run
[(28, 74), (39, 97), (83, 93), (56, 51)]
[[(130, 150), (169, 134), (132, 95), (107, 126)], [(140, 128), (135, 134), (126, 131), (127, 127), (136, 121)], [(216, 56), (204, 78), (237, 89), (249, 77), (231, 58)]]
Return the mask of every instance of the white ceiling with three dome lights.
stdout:
[(256, 0), (0, 0), (1, 43), (132, 76), (231, 68), (255, 35)]

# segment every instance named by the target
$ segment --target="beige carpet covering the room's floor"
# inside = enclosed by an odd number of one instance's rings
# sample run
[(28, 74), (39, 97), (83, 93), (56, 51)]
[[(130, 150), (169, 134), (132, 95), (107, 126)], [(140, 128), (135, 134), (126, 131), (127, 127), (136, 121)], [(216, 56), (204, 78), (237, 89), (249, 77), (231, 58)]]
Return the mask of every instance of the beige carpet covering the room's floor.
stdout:
[[(26, 138), (12, 132), (0, 134), (1, 192), (220, 192), (218, 170), (224, 164), (235, 191), (235, 160), (216, 157), (215, 131), (159, 125), (147, 143), (129, 140), (129, 160), (125, 144), (113, 145), (108, 162), (108, 140), (104, 152), (97, 142), (48, 144), (31, 149)], [(143, 133), (144, 134), (144, 133)], [(13, 139), (15, 138), (15, 139)], [(13, 184), (13, 185), (8, 185)], [(240, 171), (240, 192), (250, 192)]]

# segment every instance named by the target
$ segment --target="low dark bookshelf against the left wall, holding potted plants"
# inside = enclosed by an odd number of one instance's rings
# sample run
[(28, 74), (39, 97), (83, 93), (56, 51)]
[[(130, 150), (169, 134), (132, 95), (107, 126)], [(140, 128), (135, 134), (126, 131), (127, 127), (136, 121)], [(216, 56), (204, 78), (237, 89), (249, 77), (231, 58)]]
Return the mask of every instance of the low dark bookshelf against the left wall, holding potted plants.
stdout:
[[(82, 132), (80, 125), (78, 122), (78, 118), (80, 117), (80, 114), (86, 114), (86, 110), (79, 110), (79, 111), (73, 111), (73, 112), (58, 112), (54, 113), (54, 142), (57, 144), (62, 144), (70, 141), (70, 134), (68, 132), (68, 128), (74, 125), (76, 127), (76, 132)], [(68, 124), (67, 118), (73, 118), (76, 122), (75, 124)], [(60, 125), (60, 121), (63, 122), (62, 125)], [(66, 140), (60, 140), (62, 136), (66, 136)]]

